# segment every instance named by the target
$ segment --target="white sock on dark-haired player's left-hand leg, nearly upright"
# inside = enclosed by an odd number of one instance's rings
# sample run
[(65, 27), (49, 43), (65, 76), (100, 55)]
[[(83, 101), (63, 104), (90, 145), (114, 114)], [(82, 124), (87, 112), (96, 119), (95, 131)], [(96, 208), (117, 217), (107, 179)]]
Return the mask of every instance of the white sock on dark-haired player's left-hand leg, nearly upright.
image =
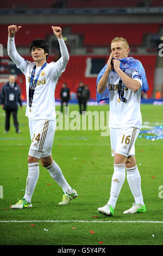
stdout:
[(28, 176), (26, 181), (26, 192), (24, 197), (28, 203), (31, 203), (31, 198), (39, 178), (39, 163), (28, 163)]

